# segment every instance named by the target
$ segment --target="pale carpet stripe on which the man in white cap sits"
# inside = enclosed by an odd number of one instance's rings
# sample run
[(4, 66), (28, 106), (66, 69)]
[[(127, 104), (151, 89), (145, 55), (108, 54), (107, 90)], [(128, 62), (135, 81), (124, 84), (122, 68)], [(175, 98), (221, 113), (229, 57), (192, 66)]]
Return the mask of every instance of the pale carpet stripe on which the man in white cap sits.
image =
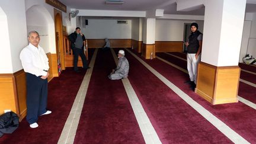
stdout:
[[(111, 53), (114, 57), (114, 60), (117, 65), (117, 56), (113, 49), (111, 49)], [(146, 112), (144, 111), (142, 104), (137, 98), (135, 90), (133, 89), (132, 85), (128, 78), (121, 79), (123, 82), (124, 88), (126, 89), (126, 93), (128, 95), (130, 104), (132, 105), (133, 112), (135, 113), (135, 117), (137, 123), (139, 124), (140, 131), (142, 132), (143, 138), (146, 143), (161, 143), (155, 129), (153, 128), (151, 121), (149, 120)]]

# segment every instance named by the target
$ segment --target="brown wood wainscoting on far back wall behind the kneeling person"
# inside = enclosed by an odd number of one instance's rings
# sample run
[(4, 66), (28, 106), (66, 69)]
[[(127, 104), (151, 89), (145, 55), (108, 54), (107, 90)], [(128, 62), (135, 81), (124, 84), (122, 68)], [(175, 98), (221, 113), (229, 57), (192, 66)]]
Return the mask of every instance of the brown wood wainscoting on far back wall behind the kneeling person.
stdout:
[[(108, 39), (111, 48), (132, 47), (131, 39)], [(87, 39), (88, 48), (102, 48), (105, 46), (105, 39)]]

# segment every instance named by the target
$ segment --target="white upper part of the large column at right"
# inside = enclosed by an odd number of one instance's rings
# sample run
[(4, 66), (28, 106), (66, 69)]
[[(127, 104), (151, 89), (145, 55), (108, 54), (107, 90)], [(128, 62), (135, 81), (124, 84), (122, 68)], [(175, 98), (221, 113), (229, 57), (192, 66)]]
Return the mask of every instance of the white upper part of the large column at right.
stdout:
[(215, 66), (237, 66), (246, 0), (206, 0), (201, 61)]

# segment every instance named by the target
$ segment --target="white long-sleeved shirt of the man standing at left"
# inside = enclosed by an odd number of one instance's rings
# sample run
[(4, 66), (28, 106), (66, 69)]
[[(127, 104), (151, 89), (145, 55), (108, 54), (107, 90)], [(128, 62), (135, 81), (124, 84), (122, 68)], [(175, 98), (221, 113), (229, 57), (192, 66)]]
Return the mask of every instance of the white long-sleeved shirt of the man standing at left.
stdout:
[(20, 53), (21, 64), (25, 72), (36, 76), (46, 76), (49, 70), (49, 62), (46, 53), (40, 46), (35, 47), (33, 44), (28, 44)]

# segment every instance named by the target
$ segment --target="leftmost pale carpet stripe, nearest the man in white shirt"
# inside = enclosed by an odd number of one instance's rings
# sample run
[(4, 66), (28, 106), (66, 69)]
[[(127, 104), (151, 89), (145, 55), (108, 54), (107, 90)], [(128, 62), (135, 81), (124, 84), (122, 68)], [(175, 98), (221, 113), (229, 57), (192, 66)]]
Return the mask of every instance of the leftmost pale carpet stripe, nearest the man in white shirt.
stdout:
[(76, 94), (75, 101), (72, 105), (71, 111), (69, 113), (68, 119), (66, 120), (65, 126), (62, 129), (59, 141), (57, 143), (73, 143), (75, 140), (76, 129), (78, 128), (80, 116), (82, 113), (82, 108), (84, 107), (85, 96), (87, 94), (87, 89), (89, 81), (91, 79), (92, 70), (94, 68), (95, 59), (97, 56), (98, 49), (95, 50), (94, 55), (89, 63), (90, 69), (87, 69), (85, 73), (84, 80)]

